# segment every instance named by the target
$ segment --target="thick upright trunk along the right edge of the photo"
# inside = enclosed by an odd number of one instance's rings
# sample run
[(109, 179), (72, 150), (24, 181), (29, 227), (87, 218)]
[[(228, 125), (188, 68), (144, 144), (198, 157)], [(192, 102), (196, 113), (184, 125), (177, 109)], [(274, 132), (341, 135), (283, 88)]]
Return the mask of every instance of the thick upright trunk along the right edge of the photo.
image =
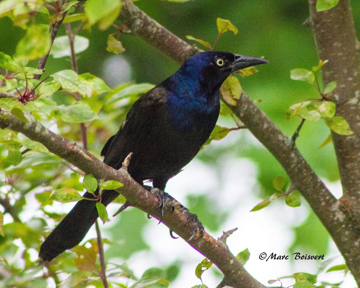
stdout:
[(356, 39), (350, 0), (324, 12), (309, 1), (310, 23), (323, 67), (323, 82), (337, 81), (333, 92), (336, 114), (349, 123), (353, 135), (332, 134), (343, 187), (342, 204), (360, 226), (360, 74), (359, 42)]

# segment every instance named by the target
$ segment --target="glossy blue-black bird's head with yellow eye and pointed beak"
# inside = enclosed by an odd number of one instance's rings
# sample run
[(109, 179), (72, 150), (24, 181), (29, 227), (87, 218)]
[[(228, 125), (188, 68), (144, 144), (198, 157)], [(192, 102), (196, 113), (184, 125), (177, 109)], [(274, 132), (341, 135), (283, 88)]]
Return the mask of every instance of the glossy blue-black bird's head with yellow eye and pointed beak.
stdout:
[(197, 77), (205, 86), (220, 87), (233, 72), (267, 63), (267, 60), (229, 52), (207, 51), (195, 54), (179, 69), (181, 73)]

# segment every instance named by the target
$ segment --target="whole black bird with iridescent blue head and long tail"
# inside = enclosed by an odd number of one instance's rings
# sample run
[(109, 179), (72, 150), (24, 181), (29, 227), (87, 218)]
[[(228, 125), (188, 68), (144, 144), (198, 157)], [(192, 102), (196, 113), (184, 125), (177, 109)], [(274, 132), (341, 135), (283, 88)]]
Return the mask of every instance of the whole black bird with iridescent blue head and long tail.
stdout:
[[(132, 105), (116, 135), (105, 144), (104, 162), (119, 169), (133, 152), (128, 172), (141, 185), (151, 179), (161, 190), (199, 152), (219, 117), (219, 89), (234, 71), (267, 63), (228, 52), (201, 52), (189, 58)], [(93, 198), (85, 193), (86, 198)], [(106, 206), (118, 193), (104, 190)], [(50, 261), (76, 246), (98, 218), (96, 201), (81, 200), (42, 243), (39, 257)]]

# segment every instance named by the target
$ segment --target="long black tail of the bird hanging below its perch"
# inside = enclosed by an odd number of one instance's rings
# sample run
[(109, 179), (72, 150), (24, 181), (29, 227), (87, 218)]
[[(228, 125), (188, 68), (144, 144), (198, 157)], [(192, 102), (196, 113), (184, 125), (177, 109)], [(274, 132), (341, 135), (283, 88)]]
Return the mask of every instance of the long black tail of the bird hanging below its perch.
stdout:
[[(107, 206), (118, 195), (114, 190), (103, 190), (101, 202)], [(94, 195), (86, 192), (84, 197), (92, 199)], [(93, 226), (98, 216), (96, 201), (84, 199), (77, 202), (74, 208), (42, 243), (39, 258), (44, 261), (51, 261), (66, 249), (75, 247), (84, 239), (87, 231)]]

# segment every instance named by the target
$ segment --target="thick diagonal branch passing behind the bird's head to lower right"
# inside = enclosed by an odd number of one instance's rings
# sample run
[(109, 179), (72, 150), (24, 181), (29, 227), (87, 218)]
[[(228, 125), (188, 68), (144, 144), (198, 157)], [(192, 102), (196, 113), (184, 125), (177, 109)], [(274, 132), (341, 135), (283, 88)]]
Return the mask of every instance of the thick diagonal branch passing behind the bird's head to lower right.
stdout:
[[(194, 52), (199, 51), (194, 50), (193, 46), (186, 44), (181, 39), (174, 39), (176, 36), (173, 33), (148, 17), (130, 1), (125, 0), (124, 4), (119, 17), (122, 23), (177, 63), (182, 64)], [(338, 18), (334, 18), (334, 21), (338, 22)], [(339, 22), (337, 24), (339, 25)], [(149, 29), (147, 29), (147, 25), (150, 26)], [(341, 31), (344, 32), (343, 28)], [(164, 39), (171, 39), (171, 41), (164, 41)], [(177, 48), (177, 43), (179, 48)], [(283, 166), (294, 187), (309, 202), (311, 208), (329, 231), (352, 275), (360, 284), (360, 266), (358, 265), (360, 251), (357, 249), (360, 243), (360, 233), (354, 227), (342, 204), (333, 197), (297, 148), (293, 147), (291, 138), (286, 137), (245, 93), (242, 93), (236, 106), (229, 107)], [(355, 160), (357, 161), (357, 159)], [(358, 165), (359, 163), (360, 161)], [(358, 181), (360, 180), (358, 179)]]

